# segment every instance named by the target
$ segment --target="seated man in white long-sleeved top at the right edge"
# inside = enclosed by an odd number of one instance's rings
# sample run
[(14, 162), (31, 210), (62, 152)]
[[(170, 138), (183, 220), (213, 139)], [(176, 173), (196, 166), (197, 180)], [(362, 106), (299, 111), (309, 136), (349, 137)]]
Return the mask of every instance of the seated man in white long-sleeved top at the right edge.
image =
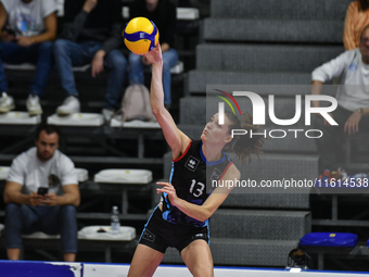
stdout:
[[(311, 93), (320, 95), (322, 84), (340, 78), (336, 92), (339, 106), (330, 116), (339, 125), (330, 125), (321, 116), (315, 118), (316, 129), (323, 133), (316, 139), (320, 155), (320, 172), (338, 169), (338, 155), (341, 154), (340, 142), (343, 133), (355, 134), (359, 128), (369, 128), (369, 25), (360, 36), (359, 48), (345, 51), (332, 61), (325, 63), (313, 72)], [(314, 101), (314, 106), (320, 106)]]

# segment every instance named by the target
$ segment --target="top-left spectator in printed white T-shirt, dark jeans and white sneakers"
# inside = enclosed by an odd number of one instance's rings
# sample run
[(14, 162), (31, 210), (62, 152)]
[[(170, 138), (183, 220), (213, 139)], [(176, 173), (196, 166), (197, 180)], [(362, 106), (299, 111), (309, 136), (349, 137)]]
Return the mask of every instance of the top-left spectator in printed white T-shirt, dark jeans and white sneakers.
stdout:
[(56, 36), (56, 3), (54, 0), (1, 0), (0, 28), (0, 113), (15, 109), (14, 99), (9, 95), (4, 62), (36, 64), (27, 110), (29, 115), (41, 114), (39, 98), (52, 68), (51, 41)]

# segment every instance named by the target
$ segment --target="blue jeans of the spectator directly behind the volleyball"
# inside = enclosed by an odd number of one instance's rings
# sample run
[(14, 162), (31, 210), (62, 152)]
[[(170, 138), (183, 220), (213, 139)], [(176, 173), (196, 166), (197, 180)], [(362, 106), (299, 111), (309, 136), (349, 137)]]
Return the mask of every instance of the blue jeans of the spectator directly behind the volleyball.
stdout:
[[(129, 54), (129, 83), (144, 84), (143, 70), (144, 64), (141, 62), (142, 56), (133, 53)], [(176, 49), (170, 48), (163, 53), (163, 89), (164, 103), (171, 103), (171, 75), (170, 68), (178, 62), (178, 53)]]

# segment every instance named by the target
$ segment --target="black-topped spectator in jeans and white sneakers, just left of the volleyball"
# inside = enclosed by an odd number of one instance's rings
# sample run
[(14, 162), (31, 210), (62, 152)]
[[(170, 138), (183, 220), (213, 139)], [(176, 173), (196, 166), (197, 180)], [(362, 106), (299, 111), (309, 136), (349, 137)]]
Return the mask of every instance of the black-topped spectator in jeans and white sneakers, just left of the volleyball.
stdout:
[(117, 48), (122, 43), (122, 3), (119, 0), (65, 0), (63, 38), (54, 46), (62, 87), (67, 97), (56, 110), (59, 115), (80, 111), (73, 66), (91, 63), (96, 77), (110, 71), (102, 113), (110, 119), (124, 83), (127, 61)]

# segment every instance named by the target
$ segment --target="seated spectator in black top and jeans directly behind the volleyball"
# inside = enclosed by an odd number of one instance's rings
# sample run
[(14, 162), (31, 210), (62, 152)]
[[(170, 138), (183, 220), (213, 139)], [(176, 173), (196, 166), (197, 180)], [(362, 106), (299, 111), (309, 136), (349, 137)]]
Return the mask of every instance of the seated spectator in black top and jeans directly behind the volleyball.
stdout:
[[(136, 0), (130, 10), (130, 18), (143, 16), (155, 23), (158, 29), (158, 40), (163, 51), (163, 87), (164, 105), (169, 109), (171, 103), (170, 67), (178, 62), (175, 46), (175, 32), (177, 21), (176, 7), (169, 0)], [(151, 63), (143, 55), (129, 54), (129, 81), (144, 84), (143, 70)]]

